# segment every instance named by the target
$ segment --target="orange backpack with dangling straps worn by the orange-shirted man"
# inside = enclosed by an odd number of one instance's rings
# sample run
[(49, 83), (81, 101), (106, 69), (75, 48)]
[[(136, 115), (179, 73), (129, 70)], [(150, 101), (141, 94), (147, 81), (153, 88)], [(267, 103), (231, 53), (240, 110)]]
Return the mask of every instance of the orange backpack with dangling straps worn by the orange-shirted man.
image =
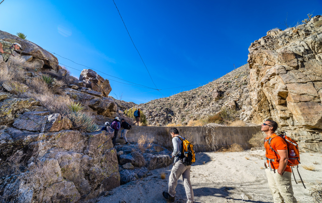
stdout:
[[(281, 134), (277, 134), (277, 136), (283, 138), (283, 140), (287, 144), (287, 150), (288, 150), (288, 155), (289, 155), (289, 161), (288, 161), (287, 165), (289, 165), (291, 167), (295, 183), (298, 184), (296, 182), (295, 175), (294, 175), (294, 172), (293, 172), (293, 167), (297, 166), (297, 170), (298, 170), (298, 165), (300, 164), (300, 153), (298, 151), (298, 143), (295, 140), (293, 140), (292, 138), (289, 138), (288, 136), (286, 136), (285, 132), (282, 132)], [(275, 136), (273, 138), (270, 137), (268, 140), (265, 139), (264, 143), (268, 142), (268, 144), (270, 146), (270, 142), (272, 141), (272, 139), (276, 138), (277, 136)], [(276, 154), (279, 154), (271, 146), (270, 146), (270, 149), (273, 150)], [(275, 158), (274, 159), (269, 159), (268, 157), (266, 157), (266, 160), (277, 162), (275, 160)], [(265, 161), (265, 167), (267, 168), (266, 161)], [(270, 166), (270, 170), (272, 170), (271, 166)], [(298, 172), (298, 175), (299, 175), (299, 177), (300, 177), (300, 179), (302, 181), (302, 184), (303, 184), (304, 188), (306, 188), (299, 172)]]

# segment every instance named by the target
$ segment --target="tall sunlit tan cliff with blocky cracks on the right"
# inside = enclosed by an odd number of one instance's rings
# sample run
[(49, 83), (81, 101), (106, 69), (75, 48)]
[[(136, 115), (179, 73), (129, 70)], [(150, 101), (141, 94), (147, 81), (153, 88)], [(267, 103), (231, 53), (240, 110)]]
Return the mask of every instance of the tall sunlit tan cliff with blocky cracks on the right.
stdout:
[(271, 118), (300, 142), (322, 153), (322, 16), (287, 30), (270, 30), (249, 47), (250, 99), (243, 117)]

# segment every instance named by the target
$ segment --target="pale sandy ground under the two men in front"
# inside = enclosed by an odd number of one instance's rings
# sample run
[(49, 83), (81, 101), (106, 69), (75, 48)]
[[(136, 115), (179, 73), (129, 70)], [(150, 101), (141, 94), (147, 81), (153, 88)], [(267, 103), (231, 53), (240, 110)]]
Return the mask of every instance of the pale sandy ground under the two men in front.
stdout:
[[(191, 183), (196, 203), (213, 202), (272, 202), (266, 173), (263, 169), (265, 152), (262, 150), (243, 152), (205, 152), (197, 153), (197, 162), (191, 167)], [(295, 183), (292, 176), (294, 194), (298, 202), (313, 203), (310, 187), (322, 182), (322, 154), (301, 153), (299, 172), (307, 189), (301, 182)], [(315, 163), (315, 164), (313, 164)], [(313, 166), (315, 171), (302, 166)], [(168, 190), (168, 178), (172, 165), (150, 171), (144, 179), (129, 182), (114, 188), (109, 195), (93, 200), (99, 203), (166, 203), (162, 191)], [(160, 173), (166, 173), (162, 180)], [(299, 181), (295, 170), (296, 180)], [(182, 178), (176, 188), (176, 203), (185, 203), (185, 189)]]

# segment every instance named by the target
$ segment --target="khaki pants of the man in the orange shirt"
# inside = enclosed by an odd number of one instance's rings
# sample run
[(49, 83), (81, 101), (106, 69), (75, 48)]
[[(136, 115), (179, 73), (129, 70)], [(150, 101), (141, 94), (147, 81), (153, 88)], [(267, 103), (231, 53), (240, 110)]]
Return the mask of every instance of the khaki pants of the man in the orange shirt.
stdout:
[(281, 176), (277, 170), (270, 171), (270, 168), (267, 168), (265, 171), (274, 203), (297, 203), (292, 188), (292, 173), (284, 171)]

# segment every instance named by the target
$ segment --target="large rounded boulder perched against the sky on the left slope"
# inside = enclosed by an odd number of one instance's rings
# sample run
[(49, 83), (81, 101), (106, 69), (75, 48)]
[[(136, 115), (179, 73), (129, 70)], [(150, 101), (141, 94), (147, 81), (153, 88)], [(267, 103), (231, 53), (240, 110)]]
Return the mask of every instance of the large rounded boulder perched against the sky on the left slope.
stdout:
[(80, 80), (85, 83), (87, 88), (103, 93), (104, 97), (109, 96), (109, 93), (112, 91), (109, 80), (102, 78), (93, 70), (84, 69), (81, 72)]

